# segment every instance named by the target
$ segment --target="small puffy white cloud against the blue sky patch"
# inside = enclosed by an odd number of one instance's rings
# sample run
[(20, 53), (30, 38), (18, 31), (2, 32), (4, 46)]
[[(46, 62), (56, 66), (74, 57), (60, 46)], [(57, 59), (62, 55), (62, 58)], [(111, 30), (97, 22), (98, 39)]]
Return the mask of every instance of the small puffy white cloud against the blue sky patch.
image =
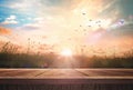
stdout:
[(7, 18), (3, 22), (1, 22), (2, 24), (17, 24), (18, 21), (16, 20), (17, 17), (16, 16), (10, 16), (9, 18)]

